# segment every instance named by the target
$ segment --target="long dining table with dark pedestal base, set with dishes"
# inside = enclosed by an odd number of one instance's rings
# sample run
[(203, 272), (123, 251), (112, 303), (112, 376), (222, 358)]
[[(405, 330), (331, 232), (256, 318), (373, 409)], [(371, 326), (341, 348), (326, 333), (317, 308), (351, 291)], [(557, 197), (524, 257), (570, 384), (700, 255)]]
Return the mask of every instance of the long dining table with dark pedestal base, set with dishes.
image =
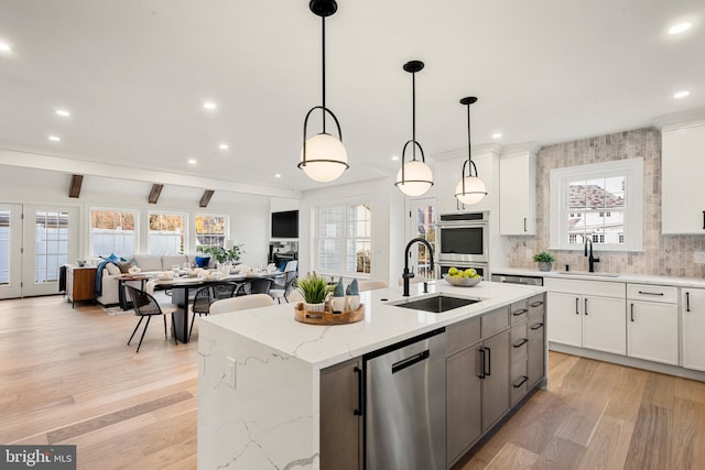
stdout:
[[(172, 314), (174, 316), (174, 331), (172, 335), (178, 342), (188, 342), (188, 303), (193, 298), (193, 293), (203, 286), (217, 284), (223, 282), (242, 282), (261, 278), (279, 278), (284, 275), (281, 271), (268, 273), (265, 271), (248, 271), (237, 274), (219, 275), (213, 277), (205, 276), (178, 276), (171, 280), (154, 280), (154, 291), (171, 291), (172, 304), (177, 309)], [(193, 315), (193, 313), (192, 313)]]

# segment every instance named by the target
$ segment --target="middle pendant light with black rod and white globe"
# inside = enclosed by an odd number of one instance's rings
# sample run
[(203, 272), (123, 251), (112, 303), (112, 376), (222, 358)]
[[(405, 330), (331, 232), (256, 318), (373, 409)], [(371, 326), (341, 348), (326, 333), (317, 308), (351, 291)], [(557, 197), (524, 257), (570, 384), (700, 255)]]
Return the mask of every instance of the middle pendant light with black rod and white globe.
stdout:
[[(411, 61), (404, 64), (404, 70), (411, 74), (411, 99), (412, 99), (412, 125), (411, 140), (404, 144), (401, 152), (401, 170), (397, 173), (394, 185), (406, 196), (421, 196), (433, 186), (433, 173), (423, 154), (421, 144), (416, 142), (416, 72), (423, 69), (423, 62)], [(412, 160), (404, 163), (406, 147), (412, 144)], [(416, 147), (421, 152), (421, 160), (416, 160)]]

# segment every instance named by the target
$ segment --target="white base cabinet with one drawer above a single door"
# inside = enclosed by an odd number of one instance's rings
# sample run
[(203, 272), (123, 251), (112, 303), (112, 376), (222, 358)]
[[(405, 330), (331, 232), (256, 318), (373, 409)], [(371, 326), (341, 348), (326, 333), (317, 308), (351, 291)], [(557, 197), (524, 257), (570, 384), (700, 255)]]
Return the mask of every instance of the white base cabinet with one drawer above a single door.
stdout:
[(677, 365), (677, 287), (627, 284), (627, 356)]

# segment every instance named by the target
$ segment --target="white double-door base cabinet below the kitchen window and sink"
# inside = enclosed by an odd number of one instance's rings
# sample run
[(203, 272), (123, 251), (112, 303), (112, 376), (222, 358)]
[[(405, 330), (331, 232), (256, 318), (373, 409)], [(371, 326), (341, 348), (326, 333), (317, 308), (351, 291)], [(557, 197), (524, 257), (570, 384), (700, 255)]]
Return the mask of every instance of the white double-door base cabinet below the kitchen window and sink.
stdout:
[(549, 340), (627, 353), (623, 283), (546, 277)]

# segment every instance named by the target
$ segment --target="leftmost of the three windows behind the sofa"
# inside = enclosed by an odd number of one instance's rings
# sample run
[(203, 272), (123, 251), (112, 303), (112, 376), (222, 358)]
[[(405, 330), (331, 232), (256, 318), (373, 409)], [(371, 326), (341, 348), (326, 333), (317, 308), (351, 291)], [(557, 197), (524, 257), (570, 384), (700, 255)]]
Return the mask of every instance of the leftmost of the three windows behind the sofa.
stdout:
[(90, 254), (131, 256), (137, 247), (138, 212), (121, 210), (90, 211)]

